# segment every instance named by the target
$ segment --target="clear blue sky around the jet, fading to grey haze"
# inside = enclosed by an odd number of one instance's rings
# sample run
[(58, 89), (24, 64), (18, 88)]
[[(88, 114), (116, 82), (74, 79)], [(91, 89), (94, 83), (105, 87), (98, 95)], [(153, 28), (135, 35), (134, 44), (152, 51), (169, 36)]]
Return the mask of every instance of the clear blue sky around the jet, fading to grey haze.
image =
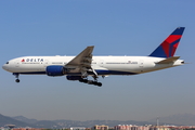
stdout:
[(0, 65), (26, 55), (148, 55), (177, 27), (186, 27), (176, 55), (183, 66), (100, 78), (103, 87), (66, 77), (0, 68), (0, 114), (38, 120), (148, 120), (195, 115), (194, 0), (0, 1)]

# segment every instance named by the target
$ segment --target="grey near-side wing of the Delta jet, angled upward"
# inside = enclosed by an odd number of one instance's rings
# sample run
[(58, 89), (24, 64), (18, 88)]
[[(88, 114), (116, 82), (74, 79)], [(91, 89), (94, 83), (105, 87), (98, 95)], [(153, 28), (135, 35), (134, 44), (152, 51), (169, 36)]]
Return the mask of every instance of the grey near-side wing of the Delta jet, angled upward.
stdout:
[(94, 46), (87, 47), (82, 52), (75, 56), (69, 63), (65, 65), (67, 68), (79, 68), (78, 73), (81, 73), (83, 77), (87, 77), (87, 72), (93, 72), (96, 76), (96, 73), (91, 67), (92, 62), (92, 52)]

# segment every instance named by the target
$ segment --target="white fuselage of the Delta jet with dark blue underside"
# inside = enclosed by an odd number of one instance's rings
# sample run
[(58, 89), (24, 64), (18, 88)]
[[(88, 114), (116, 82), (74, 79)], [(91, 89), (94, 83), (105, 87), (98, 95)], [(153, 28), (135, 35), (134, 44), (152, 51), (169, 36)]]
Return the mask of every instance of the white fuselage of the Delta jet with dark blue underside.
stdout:
[[(24, 56), (9, 61), (3, 69), (15, 74), (46, 74), (47, 66), (65, 66), (75, 56)], [(162, 57), (152, 56), (93, 56), (91, 67), (99, 76), (107, 75), (135, 75), (174, 67), (183, 64), (177, 60), (169, 64), (156, 64)], [(79, 76), (79, 68), (75, 68), (66, 75)]]

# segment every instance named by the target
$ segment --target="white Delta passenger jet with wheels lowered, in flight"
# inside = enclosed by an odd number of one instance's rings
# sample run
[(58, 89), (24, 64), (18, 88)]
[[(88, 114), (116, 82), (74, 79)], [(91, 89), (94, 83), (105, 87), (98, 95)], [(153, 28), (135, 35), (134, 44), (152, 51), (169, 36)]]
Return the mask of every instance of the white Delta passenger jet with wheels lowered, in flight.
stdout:
[(183, 65), (184, 61), (174, 53), (184, 29), (178, 27), (147, 56), (93, 56), (94, 46), (90, 46), (77, 56), (23, 56), (10, 60), (2, 68), (13, 73), (16, 82), (20, 75), (48, 75), (102, 87), (100, 76), (138, 75)]

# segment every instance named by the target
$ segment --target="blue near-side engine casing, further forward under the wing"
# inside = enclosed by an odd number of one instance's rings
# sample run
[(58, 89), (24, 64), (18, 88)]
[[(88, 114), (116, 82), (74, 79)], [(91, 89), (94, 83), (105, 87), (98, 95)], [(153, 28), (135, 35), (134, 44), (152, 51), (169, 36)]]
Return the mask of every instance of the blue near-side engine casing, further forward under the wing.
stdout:
[(48, 76), (64, 76), (66, 74), (66, 69), (64, 66), (60, 65), (51, 65), (46, 68), (46, 73)]

